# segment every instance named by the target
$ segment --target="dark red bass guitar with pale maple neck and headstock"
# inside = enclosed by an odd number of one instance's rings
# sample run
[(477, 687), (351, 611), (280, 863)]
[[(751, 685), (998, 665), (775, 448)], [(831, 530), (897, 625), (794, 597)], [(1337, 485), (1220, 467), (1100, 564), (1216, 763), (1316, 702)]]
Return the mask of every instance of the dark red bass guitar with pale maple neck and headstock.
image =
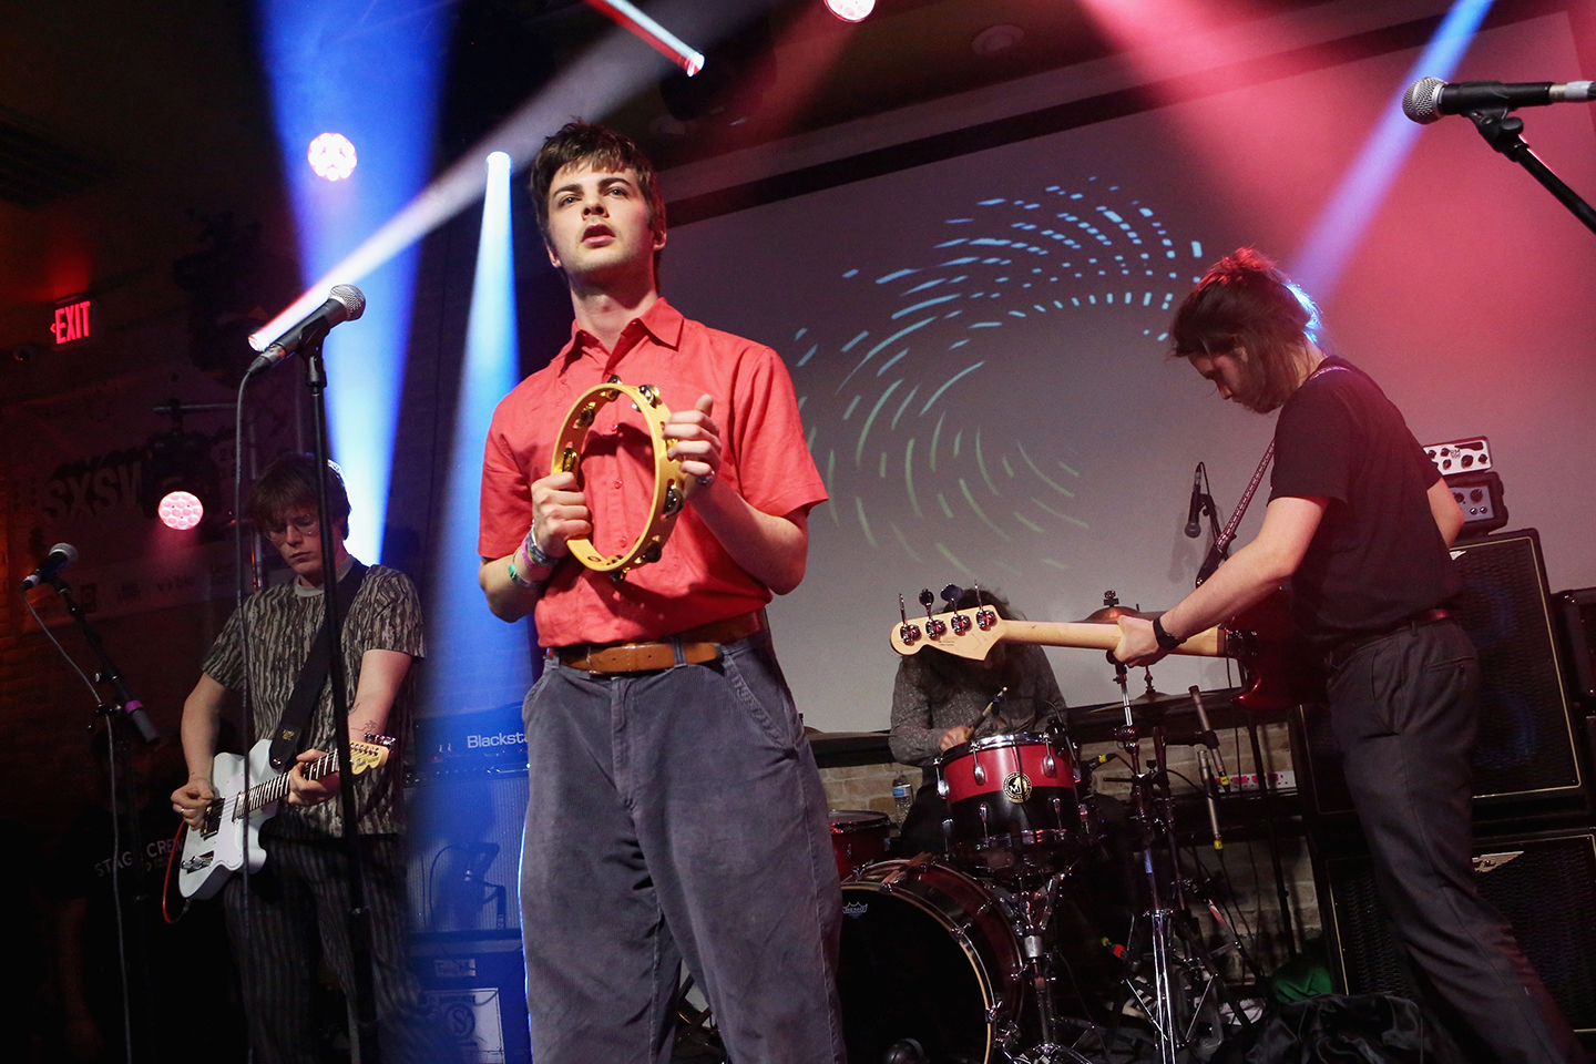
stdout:
[[(924, 621), (900, 621), (892, 625), (891, 638), (892, 649), (903, 656), (930, 646), (956, 657), (983, 660), (999, 643), (1112, 651), (1119, 646), (1119, 625), (1098, 621), (1005, 621), (991, 606), (980, 606)], [(1286, 710), (1325, 699), (1318, 657), (1291, 624), (1285, 592), (1270, 595), (1229, 625), (1195, 633), (1170, 652), (1234, 659), (1242, 670), (1242, 689), (1234, 699), (1248, 710)]]

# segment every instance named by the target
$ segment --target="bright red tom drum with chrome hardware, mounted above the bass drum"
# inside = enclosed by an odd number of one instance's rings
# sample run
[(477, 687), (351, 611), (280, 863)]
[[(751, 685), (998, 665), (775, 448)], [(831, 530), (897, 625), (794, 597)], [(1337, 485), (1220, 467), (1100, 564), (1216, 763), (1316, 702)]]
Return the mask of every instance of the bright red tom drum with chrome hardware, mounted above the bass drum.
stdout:
[(948, 799), (948, 853), (993, 873), (1053, 871), (1082, 849), (1076, 761), (1068, 740), (1039, 732), (988, 735), (937, 761)]

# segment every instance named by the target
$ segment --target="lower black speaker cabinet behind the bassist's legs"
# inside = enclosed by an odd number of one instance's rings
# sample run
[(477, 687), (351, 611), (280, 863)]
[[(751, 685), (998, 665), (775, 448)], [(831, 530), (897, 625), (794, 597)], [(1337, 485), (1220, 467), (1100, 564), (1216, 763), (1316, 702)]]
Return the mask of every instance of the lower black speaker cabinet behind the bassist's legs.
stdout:
[[(1596, 1032), (1596, 833), (1475, 841), (1479, 893), (1511, 922), (1518, 944), (1575, 1031)], [(1398, 959), (1368, 857), (1323, 861), (1331, 971), (1347, 994), (1417, 994)]]

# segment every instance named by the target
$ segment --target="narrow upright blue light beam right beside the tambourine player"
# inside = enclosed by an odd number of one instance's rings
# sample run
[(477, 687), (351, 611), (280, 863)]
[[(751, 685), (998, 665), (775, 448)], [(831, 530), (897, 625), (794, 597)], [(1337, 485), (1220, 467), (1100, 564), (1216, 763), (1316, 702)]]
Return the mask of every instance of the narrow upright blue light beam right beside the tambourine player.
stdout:
[[(433, 711), (488, 710), (520, 702), (531, 686), (527, 621), (508, 625), (487, 611), (477, 584), (477, 506), (482, 447), (498, 400), (516, 386), (516, 263), (511, 254), (511, 158), (487, 160), (482, 239), (471, 286), (466, 356), (455, 402), (439, 554), (431, 562), (425, 702)], [(458, 705), (468, 699), (471, 705)]]

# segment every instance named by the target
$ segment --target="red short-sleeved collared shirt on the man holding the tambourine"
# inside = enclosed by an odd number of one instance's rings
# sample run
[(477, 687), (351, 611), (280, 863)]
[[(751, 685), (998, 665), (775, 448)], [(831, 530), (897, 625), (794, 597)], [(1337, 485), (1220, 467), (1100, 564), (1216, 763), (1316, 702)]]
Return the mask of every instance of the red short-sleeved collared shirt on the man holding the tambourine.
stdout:
[[(477, 550), (484, 558), (503, 558), (525, 538), (531, 483), (549, 475), (565, 415), (611, 373), (624, 384), (656, 386), (670, 410), (691, 410), (699, 396), (712, 396), (721, 439), (718, 480), (755, 509), (785, 515), (825, 501), (780, 357), (658, 300), (627, 324), (613, 353), (573, 324), (554, 361), (500, 402), (482, 459)], [(650, 518), (654, 455), (646, 424), (624, 399), (605, 405), (587, 431), (581, 479), (594, 549), (626, 552)], [(658, 640), (769, 600), (769, 589), (733, 562), (688, 501), (659, 562), (619, 582), (576, 560), (560, 562), (535, 619), (543, 646), (619, 643)]]

